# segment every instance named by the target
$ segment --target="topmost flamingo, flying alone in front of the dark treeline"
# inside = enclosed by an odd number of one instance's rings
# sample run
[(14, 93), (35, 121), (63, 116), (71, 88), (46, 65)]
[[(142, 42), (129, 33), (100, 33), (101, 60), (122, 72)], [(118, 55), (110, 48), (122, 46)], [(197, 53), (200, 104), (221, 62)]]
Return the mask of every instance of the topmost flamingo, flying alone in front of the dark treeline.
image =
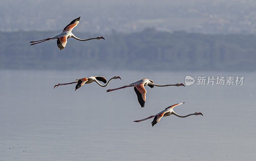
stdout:
[[(76, 25), (79, 23), (80, 17), (74, 19), (73, 21), (70, 22), (70, 24), (68, 24), (63, 31), (61, 32), (61, 34), (53, 37), (53, 38), (47, 38), (47, 39), (43, 39), (43, 40), (38, 40), (38, 41), (30, 41), (29, 43), (33, 43), (30, 45), (35, 45), (47, 40), (53, 40), (53, 39), (57, 39), (57, 46), (59, 47), (59, 49), (64, 49), (64, 47), (67, 44), (67, 39), (68, 38), (74, 38), (77, 39), (79, 41), (88, 41), (88, 40), (92, 40), (92, 39), (104, 39), (105, 38), (103, 36), (98, 36), (96, 38), (90, 38), (90, 39), (79, 39), (77, 38), (71, 31), (73, 30), (74, 27), (76, 27)], [(39, 42), (40, 41), (40, 42)], [(34, 42), (38, 42), (38, 43), (34, 43)]]

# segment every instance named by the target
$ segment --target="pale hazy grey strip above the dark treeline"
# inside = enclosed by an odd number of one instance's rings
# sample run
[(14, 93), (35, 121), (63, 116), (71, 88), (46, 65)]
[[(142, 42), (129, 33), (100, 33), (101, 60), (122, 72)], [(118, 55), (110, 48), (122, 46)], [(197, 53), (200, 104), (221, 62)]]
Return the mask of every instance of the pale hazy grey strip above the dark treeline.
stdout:
[(157, 30), (256, 33), (254, 1), (0, 1), (0, 31), (61, 31), (81, 16), (78, 32)]

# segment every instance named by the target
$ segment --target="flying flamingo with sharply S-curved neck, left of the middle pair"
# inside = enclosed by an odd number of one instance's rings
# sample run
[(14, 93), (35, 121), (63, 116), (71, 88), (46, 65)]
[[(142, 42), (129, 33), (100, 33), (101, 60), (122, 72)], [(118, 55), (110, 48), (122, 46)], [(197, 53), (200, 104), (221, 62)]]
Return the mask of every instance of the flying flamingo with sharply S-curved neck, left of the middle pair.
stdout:
[[(112, 80), (112, 79), (120, 79), (121, 80), (121, 77), (119, 76), (114, 76), (113, 78), (109, 79), (108, 80), (108, 83)], [(101, 87), (106, 87), (108, 85), (105, 84), (105, 85), (101, 85), (99, 81), (102, 81), (103, 83), (107, 83), (107, 80), (106, 78), (104, 77), (101, 77), (101, 76), (93, 76), (93, 77), (86, 77), (86, 78), (81, 78), (81, 79), (76, 79), (75, 82), (71, 82), (71, 83), (59, 83), (59, 84), (56, 84), (53, 89), (55, 87), (58, 88), (58, 86), (62, 86), (62, 85), (66, 85), (66, 84), (73, 84), (73, 83), (77, 83), (76, 84), (76, 89), (80, 88), (81, 86), (83, 86), (84, 84), (89, 84), (89, 83), (92, 83), (92, 82), (96, 82), (97, 84), (99, 84)], [(75, 91), (76, 91), (75, 89)]]

